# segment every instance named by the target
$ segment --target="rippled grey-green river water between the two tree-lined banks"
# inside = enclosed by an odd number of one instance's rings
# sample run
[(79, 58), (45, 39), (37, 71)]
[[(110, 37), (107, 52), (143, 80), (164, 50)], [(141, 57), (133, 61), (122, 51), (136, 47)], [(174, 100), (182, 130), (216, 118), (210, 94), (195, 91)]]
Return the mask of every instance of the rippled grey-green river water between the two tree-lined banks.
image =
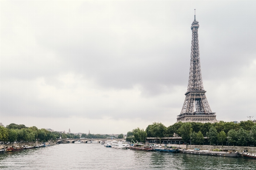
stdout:
[(256, 159), (59, 144), (0, 154), (3, 170), (256, 170)]

